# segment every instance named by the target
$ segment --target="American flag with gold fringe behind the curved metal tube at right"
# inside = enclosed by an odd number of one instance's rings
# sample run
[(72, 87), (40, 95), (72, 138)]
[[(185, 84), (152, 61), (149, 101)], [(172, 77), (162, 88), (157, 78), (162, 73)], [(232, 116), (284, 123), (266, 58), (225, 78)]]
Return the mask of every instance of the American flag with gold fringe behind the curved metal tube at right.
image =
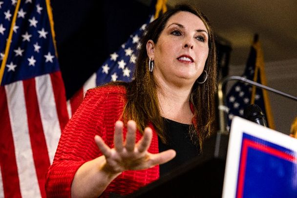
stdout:
[[(266, 85), (263, 53), (259, 41), (251, 46), (250, 55), (242, 77)], [(270, 110), (270, 102), (266, 90), (256, 88), (243, 82), (236, 82), (226, 97), (228, 111), (228, 131), (232, 118), (236, 115), (243, 117), (244, 109), (249, 104), (258, 105), (266, 115), (267, 125), (274, 129), (274, 122)]]

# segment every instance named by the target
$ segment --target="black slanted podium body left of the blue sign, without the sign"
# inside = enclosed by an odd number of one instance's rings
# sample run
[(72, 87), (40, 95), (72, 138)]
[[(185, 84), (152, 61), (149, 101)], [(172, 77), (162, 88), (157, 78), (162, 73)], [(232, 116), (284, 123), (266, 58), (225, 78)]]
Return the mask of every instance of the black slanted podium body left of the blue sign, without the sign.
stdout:
[(221, 198), (228, 138), (213, 135), (205, 141), (203, 154), (125, 198)]

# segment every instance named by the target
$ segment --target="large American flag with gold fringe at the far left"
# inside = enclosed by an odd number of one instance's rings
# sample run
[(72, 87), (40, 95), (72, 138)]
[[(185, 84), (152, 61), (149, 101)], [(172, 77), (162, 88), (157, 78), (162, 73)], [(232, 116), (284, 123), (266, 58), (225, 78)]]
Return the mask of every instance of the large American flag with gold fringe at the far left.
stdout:
[(49, 0), (0, 0), (0, 197), (39, 198), (68, 121)]

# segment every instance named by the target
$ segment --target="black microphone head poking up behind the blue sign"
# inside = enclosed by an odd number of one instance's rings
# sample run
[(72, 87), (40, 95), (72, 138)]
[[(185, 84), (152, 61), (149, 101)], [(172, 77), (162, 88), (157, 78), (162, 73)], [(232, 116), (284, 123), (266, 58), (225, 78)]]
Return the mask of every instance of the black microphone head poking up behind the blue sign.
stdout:
[(248, 105), (243, 111), (244, 118), (267, 127), (265, 115), (261, 108), (255, 104)]

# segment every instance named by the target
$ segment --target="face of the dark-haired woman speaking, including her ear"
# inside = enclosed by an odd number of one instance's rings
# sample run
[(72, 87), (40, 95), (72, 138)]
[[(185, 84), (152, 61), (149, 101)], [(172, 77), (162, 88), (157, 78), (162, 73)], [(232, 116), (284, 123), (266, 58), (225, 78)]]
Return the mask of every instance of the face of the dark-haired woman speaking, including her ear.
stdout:
[(160, 82), (193, 85), (209, 53), (208, 31), (199, 17), (181, 11), (172, 15), (157, 43), (147, 43), (154, 61), (153, 75)]

